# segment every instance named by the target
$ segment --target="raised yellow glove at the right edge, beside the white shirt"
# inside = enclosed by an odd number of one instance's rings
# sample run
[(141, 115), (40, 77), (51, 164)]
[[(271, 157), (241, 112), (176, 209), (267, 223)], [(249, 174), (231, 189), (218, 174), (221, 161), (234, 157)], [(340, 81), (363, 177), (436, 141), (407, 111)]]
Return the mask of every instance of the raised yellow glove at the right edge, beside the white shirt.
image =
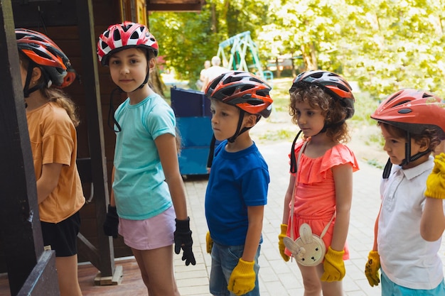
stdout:
[(445, 199), (445, 153), (434, 158), (434, 168), (427, 179), (426, 197)]

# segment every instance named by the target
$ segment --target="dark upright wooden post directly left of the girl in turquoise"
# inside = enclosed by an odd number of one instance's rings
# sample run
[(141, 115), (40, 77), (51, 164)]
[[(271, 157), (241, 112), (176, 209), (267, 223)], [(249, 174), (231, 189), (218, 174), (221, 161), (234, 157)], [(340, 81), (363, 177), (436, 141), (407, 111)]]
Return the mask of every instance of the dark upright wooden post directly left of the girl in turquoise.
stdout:
[(82, 85), (85, 88), (85, 102), (87, 122), (88, 122), (88, 138), (90, 144), (91, 155), (91, 173), (92, 182), (95, 190), (96, 216), (97, 216), (97, 239), (99, 241), (98, 258), (92, 263), (100, 270), (104, 276), (112, 276), (114, 273), (114, 250), (112, 238), (105, 236), (102, 230), (102, 224), (105, 221), (107, 213), (108, 194), (108, 177), (107, 162), (104, 150), (104, 133), (102, 127), (102, 106), (100, 102), (100, 87), (97, 70), (97, 54), (96, 43), (94, 39), (94, 21), (92, 1), (76, 0), (77, 17), (82, 19), (78, 24), (79, 38), (82, 57), (83, 78)]

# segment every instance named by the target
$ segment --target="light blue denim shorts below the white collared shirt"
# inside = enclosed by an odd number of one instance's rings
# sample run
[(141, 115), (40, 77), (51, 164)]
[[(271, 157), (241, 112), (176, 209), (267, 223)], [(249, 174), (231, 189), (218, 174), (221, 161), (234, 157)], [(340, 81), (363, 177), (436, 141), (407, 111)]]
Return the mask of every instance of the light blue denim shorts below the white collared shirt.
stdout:
[(380, 269), (380, 271), (382, 273), (382, 296), (445, 296), (444, 280), (434, 289), (415, 290), (392, 283), (383, 270)]

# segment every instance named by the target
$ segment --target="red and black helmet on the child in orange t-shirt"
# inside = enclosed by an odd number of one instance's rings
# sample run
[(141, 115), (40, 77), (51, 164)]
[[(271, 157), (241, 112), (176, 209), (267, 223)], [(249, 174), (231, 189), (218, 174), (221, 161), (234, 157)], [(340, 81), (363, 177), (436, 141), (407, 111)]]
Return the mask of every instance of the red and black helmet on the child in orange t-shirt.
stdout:
[(45, 78), (59, 86), (67, 75), (70, 60), (53, 40), (43, 33), (24, 28), (16, 28), (17, 47), (36, 65), (41, 66)]

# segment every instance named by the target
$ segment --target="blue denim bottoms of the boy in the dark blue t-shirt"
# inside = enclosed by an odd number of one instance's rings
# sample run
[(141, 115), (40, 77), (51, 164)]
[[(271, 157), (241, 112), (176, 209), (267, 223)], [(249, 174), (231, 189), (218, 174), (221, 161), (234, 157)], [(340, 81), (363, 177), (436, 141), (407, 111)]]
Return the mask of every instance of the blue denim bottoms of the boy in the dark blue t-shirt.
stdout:
[[(254, 271), (257, 278), (255, 279), (255, 287), (246, 296), (259, 296), (258, 285), (258, 257), (261, 245), (258, 246), (257, 254), (255, 255)], [(218, 243), (213, 243), (212, 248), (212, 268), (210, 269), (210, 293), (215, 296), (235, 296), (232, 292), (227, 290), (232, 270), (235, 269), (238, 261), (242, 257), (244, 245), (242, 246), (223, 246)]]

